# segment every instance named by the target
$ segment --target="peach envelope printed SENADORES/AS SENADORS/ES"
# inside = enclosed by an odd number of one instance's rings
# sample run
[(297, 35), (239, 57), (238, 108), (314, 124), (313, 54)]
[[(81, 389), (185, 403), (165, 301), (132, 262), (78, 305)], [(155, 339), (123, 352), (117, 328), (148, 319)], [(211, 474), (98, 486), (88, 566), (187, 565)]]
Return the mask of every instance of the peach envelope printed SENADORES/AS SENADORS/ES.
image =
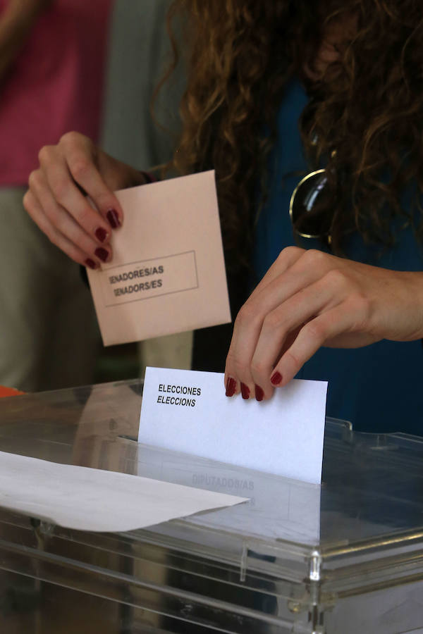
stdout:
[(230, 322), (214, 171), (116, 196), (113, 259), (87, 269), (104, 345)]

